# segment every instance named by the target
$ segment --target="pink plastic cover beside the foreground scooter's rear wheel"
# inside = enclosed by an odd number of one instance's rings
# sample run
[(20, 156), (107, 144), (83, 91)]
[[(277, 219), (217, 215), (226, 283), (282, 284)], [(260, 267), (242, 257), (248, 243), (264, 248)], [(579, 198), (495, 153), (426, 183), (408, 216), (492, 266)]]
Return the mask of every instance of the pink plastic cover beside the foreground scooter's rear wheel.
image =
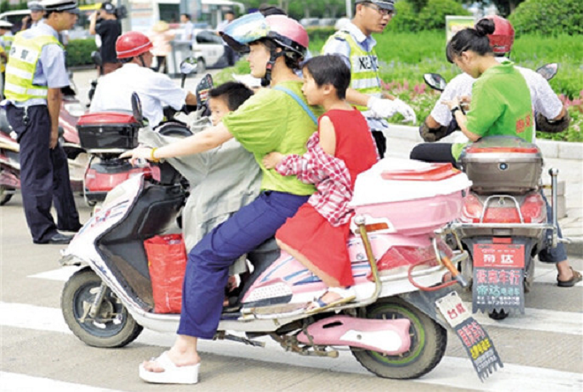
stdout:
[(297, 335), (297, 340), (304, 344), (359, 347), (399, 355), (410, 348), (409, 327), (409, 319), (333, 316), (311, 324)]

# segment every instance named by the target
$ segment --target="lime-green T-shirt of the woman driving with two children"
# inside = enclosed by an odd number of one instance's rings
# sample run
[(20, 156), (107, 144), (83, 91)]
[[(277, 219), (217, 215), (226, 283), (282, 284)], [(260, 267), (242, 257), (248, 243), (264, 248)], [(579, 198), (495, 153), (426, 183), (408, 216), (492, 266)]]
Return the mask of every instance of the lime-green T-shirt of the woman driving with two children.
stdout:
[[(285, 81), (278, 86), (292, 90), (307, 104), (301, 81)], [(316, 106), (309, 108), (317, 117), (324, 112)], [(262, 189), (303, 196), (314, 193), (313, 185), (304, 184), (295, 176), (284, 177), (273, 169), (267, 170), (262, 162), (265, 155), (272, 151), (283, 155), (303, 155), (308, 138), (318, 130), (294, 98), (280, 90), (262, 88), (239, 109), (227, 114), (223, 124), (255, 156), (263, 173)]]

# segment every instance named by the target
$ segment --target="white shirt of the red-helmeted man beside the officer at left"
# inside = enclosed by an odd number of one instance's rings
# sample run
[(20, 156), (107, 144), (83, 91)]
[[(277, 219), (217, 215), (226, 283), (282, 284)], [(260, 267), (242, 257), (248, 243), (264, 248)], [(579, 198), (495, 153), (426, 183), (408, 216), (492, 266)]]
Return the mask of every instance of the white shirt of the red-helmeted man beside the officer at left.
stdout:
[(134, 91), (140, 96), (143, 115), (150, 121), (150, 127), (162, 121), (164, 106), (180, 110), (187, 96), (187, 91), (167, 75), (130, 63), (99, 80), (89, 111), (131, 111)]

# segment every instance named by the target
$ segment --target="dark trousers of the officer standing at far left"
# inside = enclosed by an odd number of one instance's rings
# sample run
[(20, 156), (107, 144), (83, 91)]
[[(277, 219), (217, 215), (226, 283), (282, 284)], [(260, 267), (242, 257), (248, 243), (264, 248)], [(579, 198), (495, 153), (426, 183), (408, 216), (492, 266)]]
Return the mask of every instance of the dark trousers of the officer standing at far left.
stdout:
[[(81, 228), (73, 199), (69, 166), (60, 144), (50, 150), (50, 116), (45, 105), (25, 110), (9, 104), (8, 122), (18, 135), (20, 144), (20, 189), (22, 204), (33, 242), (49, 241), (57, 230), (77, 231)], [(58, 225), (50, 215), (55, 204)]]

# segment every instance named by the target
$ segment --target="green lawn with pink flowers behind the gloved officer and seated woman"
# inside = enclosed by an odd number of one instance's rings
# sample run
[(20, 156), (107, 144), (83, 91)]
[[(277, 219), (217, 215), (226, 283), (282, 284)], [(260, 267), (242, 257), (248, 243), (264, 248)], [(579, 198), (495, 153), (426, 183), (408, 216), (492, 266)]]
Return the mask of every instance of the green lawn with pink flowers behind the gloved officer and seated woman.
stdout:
[[(326, 35), (311, 34), (310, 50), (316, 55), (326, 42)], [(409, 103), (417, 113), (418, 120), (429, 115), (439, 94), (425, 88), (424, 73), (440, 73), (450, 81), (460, 73), (456, 65), (445, 58), (445, 33), (422, 31), (418, 33), (386, 32), (374, 35), (377, 40), (377, 55), (380, 60), (381, 79), (388, 83), (387, 92), (399, 96)], [(583, 142), (583, 35), (560, 35), (543, 37), (524, 35), (515, 41), (511, 59), (517, 65), (536, 69), (548, 63), (559, 63), (559, 72), (550, 81), (556, 94), (569, 101), (571, 127), (556, 135), (541, 134), (537, 137), (571, 142)], [(217, 81), (231, 79), (231, 73), (249, 73), (246, 62), (240, 61), (235, 69), (227, 68), (219, 73)], [(391, 121), (399, 122), (400, 115)]]

